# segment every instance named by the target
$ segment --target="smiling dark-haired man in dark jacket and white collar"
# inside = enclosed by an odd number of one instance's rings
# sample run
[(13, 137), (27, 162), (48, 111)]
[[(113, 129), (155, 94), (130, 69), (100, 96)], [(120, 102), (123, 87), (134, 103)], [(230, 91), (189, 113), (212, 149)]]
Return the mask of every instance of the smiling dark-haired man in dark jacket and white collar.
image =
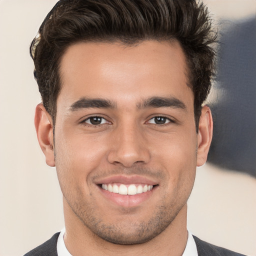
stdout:
[(194, 0), (56, 3), (30, 49), (65, 230), (25, 255), (241, 255), (186, 229), (212, 136), (214, 41)]

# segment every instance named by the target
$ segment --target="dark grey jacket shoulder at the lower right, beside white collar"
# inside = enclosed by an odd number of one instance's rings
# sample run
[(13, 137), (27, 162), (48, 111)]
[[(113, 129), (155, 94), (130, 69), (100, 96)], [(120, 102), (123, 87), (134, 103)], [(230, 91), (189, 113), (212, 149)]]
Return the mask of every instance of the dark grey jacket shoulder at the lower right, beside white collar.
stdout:
[(196, 236), (194, 236), (194, 241), (196, 244), (198, 256), (207, 256), (207, 255), (214, 255), (214, 256), (245, 256), (244, 254), (240, 254), (222, 247), (218, 247), (216, 245), (210, 244), (208, 242), (202, 241)]

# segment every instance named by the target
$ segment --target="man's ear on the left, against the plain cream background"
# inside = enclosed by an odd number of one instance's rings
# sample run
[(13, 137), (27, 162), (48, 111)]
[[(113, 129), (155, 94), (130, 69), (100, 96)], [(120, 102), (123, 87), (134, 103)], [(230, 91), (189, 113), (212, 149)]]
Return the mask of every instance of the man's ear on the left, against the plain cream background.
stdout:
[(42, 103), (35, 108), (34, 125), (37, 139), (45, 155), (46, 163), (55, 166), (53, 149), (53, 126), (52, 119)]

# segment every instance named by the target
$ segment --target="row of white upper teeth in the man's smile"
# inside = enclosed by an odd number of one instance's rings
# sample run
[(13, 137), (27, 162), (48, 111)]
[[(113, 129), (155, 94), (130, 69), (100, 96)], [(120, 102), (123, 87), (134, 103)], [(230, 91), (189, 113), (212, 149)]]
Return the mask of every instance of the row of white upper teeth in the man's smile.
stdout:
[(109, 192), (113, 193), (119, 193), (119, 194), (140, 194), (142, 192), (150, 191), (153, 186), (152, 185), (138, 185), (130, 184), (130, 185), (124, 185), (124, 184), (102, 184), (101, 187), (105, 190), (108, 190)]

